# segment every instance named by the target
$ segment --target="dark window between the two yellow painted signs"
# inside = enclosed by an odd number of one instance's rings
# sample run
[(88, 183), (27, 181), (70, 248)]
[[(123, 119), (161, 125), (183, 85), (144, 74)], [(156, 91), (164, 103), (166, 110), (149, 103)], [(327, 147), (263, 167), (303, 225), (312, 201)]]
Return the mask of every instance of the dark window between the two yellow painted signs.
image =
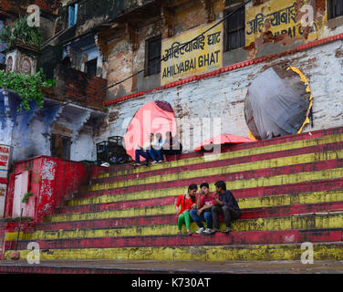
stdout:
[[(232, 10), (226, 12), (226, 16)], [(226, 51), (245, 46), (245, 7), (226, 19)]]

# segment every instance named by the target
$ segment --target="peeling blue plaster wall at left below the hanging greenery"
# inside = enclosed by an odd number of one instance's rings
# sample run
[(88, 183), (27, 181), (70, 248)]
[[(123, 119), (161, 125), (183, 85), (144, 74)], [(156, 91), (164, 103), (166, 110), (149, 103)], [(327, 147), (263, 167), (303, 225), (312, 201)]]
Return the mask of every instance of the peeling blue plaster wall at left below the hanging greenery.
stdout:
[(61, 110), (52, 109), (46, 110), (44, 115), (36, 116), (33, 113), (36, 108), (31, 106), (31, 111), (18, 115), (16, 109), (20, 103), (19, 97), (12, 92), (8, 98), (6, 96), (0, 93), (0, 144), (13, 147), (14, 162), (38, 155), (51, 155), (52, 132), (72, 138), (70, 160), (96, 161), (93, 129), (83, 129), (90, 116), (89, 110), (77, 109), (65, 114)]

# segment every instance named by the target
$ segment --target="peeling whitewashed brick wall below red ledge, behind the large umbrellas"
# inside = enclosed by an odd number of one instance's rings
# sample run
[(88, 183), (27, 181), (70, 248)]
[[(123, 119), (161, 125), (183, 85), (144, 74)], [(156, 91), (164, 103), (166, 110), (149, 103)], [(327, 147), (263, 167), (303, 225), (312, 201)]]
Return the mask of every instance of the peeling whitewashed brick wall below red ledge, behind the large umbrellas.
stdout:
[[(185, 84), (172, 89), (153, 91), (142, 98), (109, 106), (109, 117), (99, 128), (98, 141), (108, 136), (124, 136), (130, 119), (140, 107), (152, 100), (172, 104), (175, 117), (180, 119), (178, 129), (182, 137), (182, 122), (189, 118), (222, 119), (222, 133), (247, 136), (244, 119), (244, 98), (250, 83), (266, 68), (279, 65), (294, 66), (307, 77), (312, 90), (314, 128), (307, 125), (304, 131), (342, 126), (343, 114), (343, 42), (341, 40), (272, 61), (259, 63), (213, 78)], [(211, 92), (211, 95), (209, 95)], [(196, 127), (194, 127), (196, 128)], [(201, 131), (190, 133), (190, 141), (203, 141)], [(182, 141), (184, 145), (188, 140)], [(195, 145), (194, 145), (195, 146)], [(187, 149), (185, 149), (187, 151)], [(189, 148), (188, 151), (192, 150)]]

